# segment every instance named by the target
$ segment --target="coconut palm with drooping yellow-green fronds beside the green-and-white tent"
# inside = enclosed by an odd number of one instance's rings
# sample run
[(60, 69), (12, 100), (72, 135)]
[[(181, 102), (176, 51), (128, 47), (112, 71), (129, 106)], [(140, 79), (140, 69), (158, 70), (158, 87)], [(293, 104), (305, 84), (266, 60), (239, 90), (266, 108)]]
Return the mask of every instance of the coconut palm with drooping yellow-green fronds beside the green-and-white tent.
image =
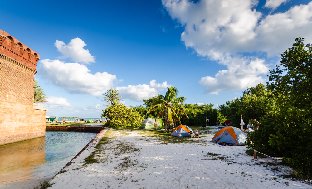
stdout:
[(168, 123), (173, 123), (174, 120), (178, 120), (181, 124), (179, 115), (185, 115), (187, 118), (188, 116), (185, 113), (187, 109), (183, 105), (186, 98), (184, 96), (177, 97), (179, 90), (174, 86), (170, 88), (167, 87), (167, 89), (168, 91), (165, 96), (159, 95), (158, 98), (154, 100), (148, 113), (150, 111), (156, 111), (158, 113), (156, 119), (164, 114), (165, 130), (166, 133), (169, 133)]

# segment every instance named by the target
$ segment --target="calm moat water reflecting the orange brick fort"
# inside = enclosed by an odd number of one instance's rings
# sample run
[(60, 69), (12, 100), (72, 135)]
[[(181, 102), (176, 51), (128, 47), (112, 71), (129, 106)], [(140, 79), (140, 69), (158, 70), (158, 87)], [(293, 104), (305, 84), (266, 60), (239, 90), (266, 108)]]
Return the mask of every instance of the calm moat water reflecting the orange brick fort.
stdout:
[(53, 177), (97, 133), (46, 131), (46, 136), (0, 146), (0, 184)]

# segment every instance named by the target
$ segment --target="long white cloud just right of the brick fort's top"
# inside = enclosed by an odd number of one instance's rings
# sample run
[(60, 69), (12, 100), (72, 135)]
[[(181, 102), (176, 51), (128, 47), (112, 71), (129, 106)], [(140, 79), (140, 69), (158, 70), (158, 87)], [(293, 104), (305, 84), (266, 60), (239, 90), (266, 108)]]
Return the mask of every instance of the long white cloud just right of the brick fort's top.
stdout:
[(91, 74), (85, 65), (59, 60), (44, 59), (40, 61), (39, 70), (42, 78), (72, 94), (101, 96), (113, 87), (116, 80), (116, 75), (107, 72)]

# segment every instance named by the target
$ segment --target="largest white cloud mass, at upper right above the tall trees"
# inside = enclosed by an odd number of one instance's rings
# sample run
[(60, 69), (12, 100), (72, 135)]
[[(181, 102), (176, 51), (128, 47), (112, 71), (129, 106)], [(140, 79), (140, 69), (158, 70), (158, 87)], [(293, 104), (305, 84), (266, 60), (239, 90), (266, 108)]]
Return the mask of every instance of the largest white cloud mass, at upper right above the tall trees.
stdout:
[[(286, 1), (267, 1), (272, 8), (283, 2)], [(220, 70), (214, 77), (203, 77), (199, 81), (205, 93), (246, 89), (264, 81), (261, 75), (269, 71), (265, 58), (244, 56), (244, 53), (279, 56), (292, 45), (295, 37), (305, 37), (305, 42), (312, 42), (312, 2), (268, 15), (256, 11), (257, 3), (255, 0), (196, 3), (162, 0), (172, 19), (184, 27), (181, 41), (185, 46), (194, 49), (198, 56), (227, 66), (227, 70)]]

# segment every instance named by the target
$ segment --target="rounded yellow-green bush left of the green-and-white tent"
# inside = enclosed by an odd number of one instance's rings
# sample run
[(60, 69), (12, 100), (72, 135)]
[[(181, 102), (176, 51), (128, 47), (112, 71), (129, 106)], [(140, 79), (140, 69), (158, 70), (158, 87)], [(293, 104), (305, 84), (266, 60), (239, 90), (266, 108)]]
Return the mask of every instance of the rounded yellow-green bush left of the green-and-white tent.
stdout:
[(114, 106), (108, 106), (101, 117), (108, 118), (105, 127), (120, 128), (120, 127), (139, 127), (141, 126), (144, 118), (139, 114), (136, 109), (127, 108), (122, 104), (115, 104)]

